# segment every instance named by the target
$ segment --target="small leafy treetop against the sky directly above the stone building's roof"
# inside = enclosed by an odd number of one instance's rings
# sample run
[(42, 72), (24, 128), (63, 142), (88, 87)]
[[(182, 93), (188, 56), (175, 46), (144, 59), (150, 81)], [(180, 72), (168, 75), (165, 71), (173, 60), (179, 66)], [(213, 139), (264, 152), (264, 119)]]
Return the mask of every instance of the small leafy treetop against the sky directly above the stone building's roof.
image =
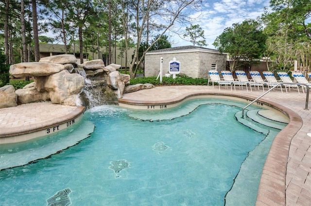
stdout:
[[(186, 27), (186, 33), (184, 37), (190, 36), (190, 42), (193, 46), (198, 45), (200, 47), (207, 46), (205, 37), (204, 37), (204, 30), (199, 25), (191, 25), (190, 27)], [(198, 40), (203, 38), (202, 40)]]

